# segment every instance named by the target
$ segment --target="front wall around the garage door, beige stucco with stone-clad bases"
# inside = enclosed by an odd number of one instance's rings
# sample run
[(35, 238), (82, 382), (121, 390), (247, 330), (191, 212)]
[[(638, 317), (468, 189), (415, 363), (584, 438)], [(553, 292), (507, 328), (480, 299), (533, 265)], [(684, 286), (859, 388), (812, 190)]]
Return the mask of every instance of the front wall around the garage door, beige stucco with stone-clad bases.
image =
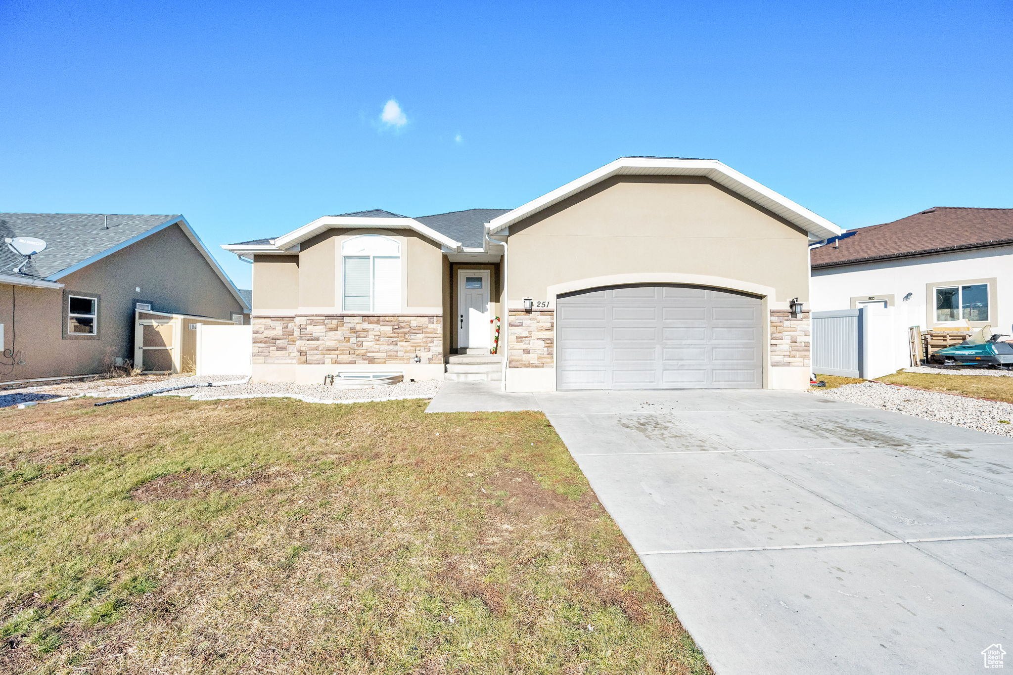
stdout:
[[(764, 387), (808, 384), (808, 236), (702, 177), (621, 176), (510, 228), (506, 389), (555, 389), (547, 319), (556, 296), (625, 283), (691, 283), (764, 299)], [(534, 312), (521, 312), (524, 299)], [(536, 333), (538, 335), (536, 335)], [(519, 354), (514, 351), (519, 350)]]

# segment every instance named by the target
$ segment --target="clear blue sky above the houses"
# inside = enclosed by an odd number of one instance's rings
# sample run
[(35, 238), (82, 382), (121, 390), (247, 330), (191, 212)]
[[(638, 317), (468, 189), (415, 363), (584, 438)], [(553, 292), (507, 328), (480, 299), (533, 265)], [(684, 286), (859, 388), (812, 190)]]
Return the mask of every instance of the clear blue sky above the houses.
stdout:
[(1008, 0), (11, 0), (0, 210), (181, 213), (248, 286), (219, 245), (509, 208), (623, 155), (845, 228), (1013, 206), (1011, 34)]

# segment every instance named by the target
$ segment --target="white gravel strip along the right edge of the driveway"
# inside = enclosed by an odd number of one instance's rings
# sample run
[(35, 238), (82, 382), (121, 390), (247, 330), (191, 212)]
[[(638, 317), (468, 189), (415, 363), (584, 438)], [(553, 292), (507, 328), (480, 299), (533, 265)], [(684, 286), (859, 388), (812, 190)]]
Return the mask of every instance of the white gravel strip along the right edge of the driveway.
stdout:
[(838, 401), (857, 403), (872, 408), (922, 417), (936, 422), (988, 431), (1000, 436), (1013, 436), (1013, 404), (985, 401), (954, 394), (923, 392), (881, 383), (845, 385), (836, 389), (812, 391)]

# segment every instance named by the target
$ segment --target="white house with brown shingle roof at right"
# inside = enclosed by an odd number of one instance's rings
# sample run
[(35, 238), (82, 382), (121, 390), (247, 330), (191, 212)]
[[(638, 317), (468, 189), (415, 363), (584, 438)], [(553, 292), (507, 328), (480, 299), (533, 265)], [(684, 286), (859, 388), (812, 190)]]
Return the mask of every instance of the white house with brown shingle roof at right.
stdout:
[(1011, 332), (1013, 208), (936, 206), (811, 251), (812, 309), (897, 307), (911, 326)]

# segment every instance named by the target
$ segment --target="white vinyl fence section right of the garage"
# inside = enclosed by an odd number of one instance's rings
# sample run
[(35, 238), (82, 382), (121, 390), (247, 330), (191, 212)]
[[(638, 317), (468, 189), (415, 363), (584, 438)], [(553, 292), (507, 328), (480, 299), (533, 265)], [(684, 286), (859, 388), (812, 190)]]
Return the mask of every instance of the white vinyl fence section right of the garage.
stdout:
[(906, 316), (895, 308), (813, 312), (812, 371), (879, 377), (911, 365)]

